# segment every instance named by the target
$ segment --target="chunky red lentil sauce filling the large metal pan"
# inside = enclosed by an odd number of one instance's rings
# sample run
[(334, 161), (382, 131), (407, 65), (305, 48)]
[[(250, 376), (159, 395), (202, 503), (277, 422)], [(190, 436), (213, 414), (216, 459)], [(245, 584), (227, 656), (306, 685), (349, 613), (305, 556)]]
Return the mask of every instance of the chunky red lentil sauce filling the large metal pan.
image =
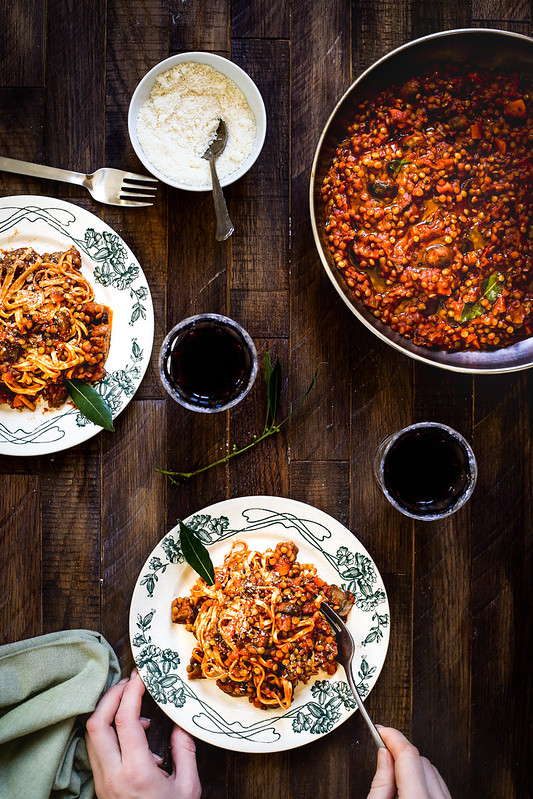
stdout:
[(531, 83), (433, 67), (358, 106), (322, 185), (350, 293), (417, 345), (533, 331)]

